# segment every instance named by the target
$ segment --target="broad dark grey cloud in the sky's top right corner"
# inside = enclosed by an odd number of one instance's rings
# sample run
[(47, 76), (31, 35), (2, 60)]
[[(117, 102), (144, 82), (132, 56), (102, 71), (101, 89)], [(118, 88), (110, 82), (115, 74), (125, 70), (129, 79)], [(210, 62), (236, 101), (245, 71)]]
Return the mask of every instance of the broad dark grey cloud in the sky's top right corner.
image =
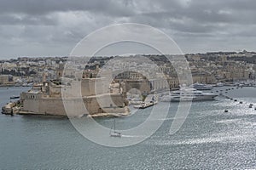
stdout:
[(256, 1), (183, 2), (161, 1), (159, 4), (162, 11), (143, 13), (132, 17), (132, 20), (154, 26), (168, 26), (177, 31), (202, 33), (222, 30), (224, 24), (234, 24), (234, 26), (256, 24), (254, 10)]

